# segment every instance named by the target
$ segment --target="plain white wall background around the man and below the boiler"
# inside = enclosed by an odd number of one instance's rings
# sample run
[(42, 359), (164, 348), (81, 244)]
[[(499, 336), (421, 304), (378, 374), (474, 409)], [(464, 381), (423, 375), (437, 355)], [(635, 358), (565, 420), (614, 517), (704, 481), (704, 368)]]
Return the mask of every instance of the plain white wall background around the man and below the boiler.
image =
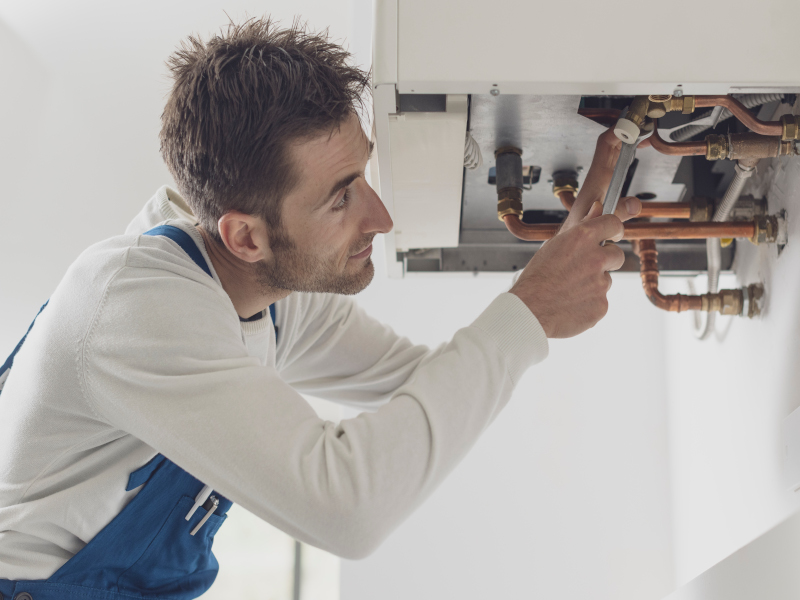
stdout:
[[(302, 15), (369, 56), (369, 0), (0, 0), (2, 352), (77, 255), (171, 183), (158, 153), (164, 61), (186, 35), (223, 26), (223, 11)], [(791, 205), (796, 180), (784, 183)], [(341, 597), (660, 598), (787, 515), (779, 425), (800, 404), (798, 263), (791, 244), (780, 261), (751, 253), (742, 269), (769, 282), (770, 312), (722, 344), (696, 342), (688, 319), (616, 277), (608, 317), (552, 343), (441, 489), (373, 556), (343, 561)], [(427, 344), (508, 285), (382, 273), (363, 305)]]

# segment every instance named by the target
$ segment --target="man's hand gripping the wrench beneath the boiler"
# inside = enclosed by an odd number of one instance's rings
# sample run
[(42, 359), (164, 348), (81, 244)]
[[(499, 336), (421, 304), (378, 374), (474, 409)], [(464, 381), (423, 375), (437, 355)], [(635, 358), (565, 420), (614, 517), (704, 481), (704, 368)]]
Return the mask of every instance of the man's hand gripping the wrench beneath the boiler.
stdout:
[(602, 214), (621, 145), (611, 130), (598, 138), (592, 166), (569, 217), (510, 290), (530, 308), (548, 338), (578, 335), (608, 312), (608, 272), (619, 269), (625, 256), (617, 246), (600, 243), (622, 239), (622, 222), (634, 218), (642, 207), (638, 199), (627, 198), (616, 214)]

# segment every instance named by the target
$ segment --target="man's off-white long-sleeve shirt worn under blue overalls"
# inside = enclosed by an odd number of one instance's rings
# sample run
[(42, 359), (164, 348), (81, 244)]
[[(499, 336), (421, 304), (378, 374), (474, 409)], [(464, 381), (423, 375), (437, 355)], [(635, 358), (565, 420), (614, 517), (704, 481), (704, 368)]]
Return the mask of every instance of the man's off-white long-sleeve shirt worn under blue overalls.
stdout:
[[(292, 293), (240, 322), (188, 207), (160, 189), (68, 269), (0, 396), (0, 578), (46, 579), (135, 496), (158, 453), (290, 535), (371, 552), (453, 469), (547, 354), (501, 294), (436, 350), (349, 297)], [(209, 277), (174, 242), (192, 236)], [(371, 407), (340, 424), (300, 393)]]

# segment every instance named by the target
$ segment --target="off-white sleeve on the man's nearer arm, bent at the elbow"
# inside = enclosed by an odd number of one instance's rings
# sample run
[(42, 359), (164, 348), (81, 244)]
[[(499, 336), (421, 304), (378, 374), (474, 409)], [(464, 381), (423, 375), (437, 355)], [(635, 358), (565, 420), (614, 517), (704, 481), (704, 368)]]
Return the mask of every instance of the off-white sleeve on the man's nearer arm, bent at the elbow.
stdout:
[[(305, 343), (337, 352), (375, 343), (364, 337), (374, 322), (341, 331), (347, 319), (365, 318), (354, 311)], [(337, 425), (247, 355), (236, 313), (213, 282), (126, 267), (106, 289), (79, 365), (100, 418), (297, 539), (359, 558), (438, 486), (519, 376), (544, 358), (544, 333), (526, 313), (501, 294), (430, 355), (387, 334), (374, 362), (404, 363), (404, 375), (373, 367), (389, 373), (386, 389), (402, 384), (376, 412)]]

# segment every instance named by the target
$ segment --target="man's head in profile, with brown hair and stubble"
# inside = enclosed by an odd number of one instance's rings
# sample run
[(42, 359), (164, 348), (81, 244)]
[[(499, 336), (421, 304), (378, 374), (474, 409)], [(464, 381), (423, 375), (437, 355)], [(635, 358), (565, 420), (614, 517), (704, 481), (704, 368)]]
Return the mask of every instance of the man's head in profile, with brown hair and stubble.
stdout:
[(356, 293), (373, 267), (352, 255), (391, 228), (363, 179), (369, 76), (348, 58), (325, 34), (268, 20), (189, 38), (170, 58), (164, 160), (203, 229), (266, 287)]

